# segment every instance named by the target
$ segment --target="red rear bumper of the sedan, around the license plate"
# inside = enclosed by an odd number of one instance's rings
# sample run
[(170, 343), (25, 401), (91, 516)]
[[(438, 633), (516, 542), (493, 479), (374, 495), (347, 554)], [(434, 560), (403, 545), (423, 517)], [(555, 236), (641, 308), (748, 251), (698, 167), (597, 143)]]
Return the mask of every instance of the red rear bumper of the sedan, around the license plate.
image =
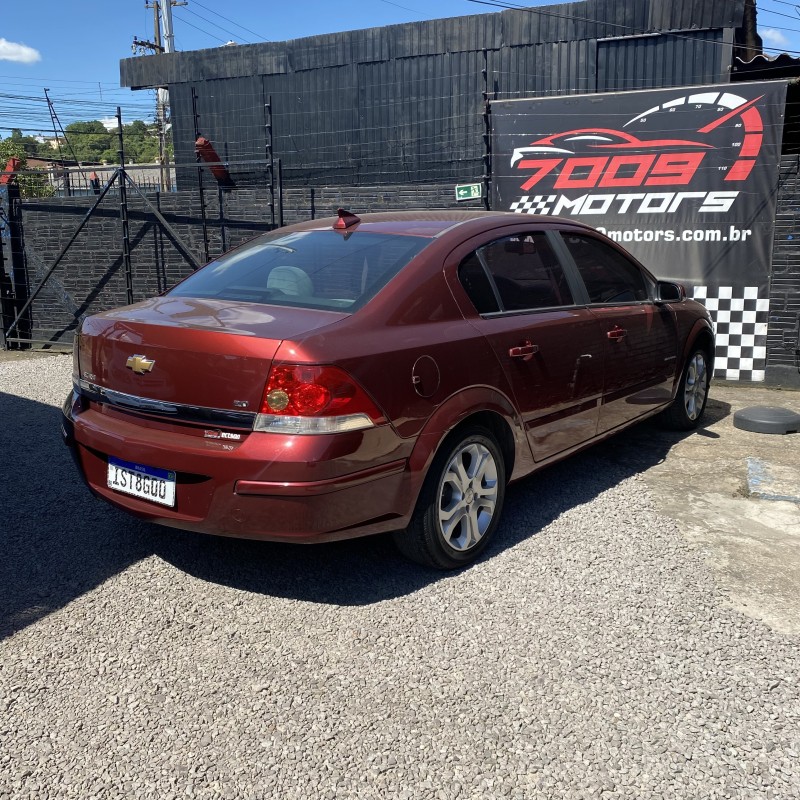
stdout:
[[(62, 435), (94, 494), (137, 517), (201, 533), (308, 543), (365, 536), (405, 527), (416, 497), (411, 444), (388, 425), (225, 442), (85, 408), (73, 394)], [(175, 506), (110, 489), (109, 456), (174, 471)]]

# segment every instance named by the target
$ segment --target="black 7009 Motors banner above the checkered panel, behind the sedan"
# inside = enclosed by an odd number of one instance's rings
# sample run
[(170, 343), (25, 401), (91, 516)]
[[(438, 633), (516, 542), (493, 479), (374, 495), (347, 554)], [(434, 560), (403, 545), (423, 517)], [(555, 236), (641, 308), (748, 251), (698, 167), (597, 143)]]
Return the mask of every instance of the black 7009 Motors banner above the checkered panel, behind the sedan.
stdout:
[(659, 277), (767, 296), (786, 83), (492, 103), (493, 204), (598, 228)]

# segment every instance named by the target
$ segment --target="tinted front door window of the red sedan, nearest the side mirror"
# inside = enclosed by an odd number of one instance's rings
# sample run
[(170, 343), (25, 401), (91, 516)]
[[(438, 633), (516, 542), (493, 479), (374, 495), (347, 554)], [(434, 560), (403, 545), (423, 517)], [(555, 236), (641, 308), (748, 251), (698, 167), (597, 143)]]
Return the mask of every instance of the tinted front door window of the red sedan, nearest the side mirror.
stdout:
[(562, 234), (590, 303), (631, 303), (647, 300), (648, 282), (642, 271), (605, 242), (579, 233)]

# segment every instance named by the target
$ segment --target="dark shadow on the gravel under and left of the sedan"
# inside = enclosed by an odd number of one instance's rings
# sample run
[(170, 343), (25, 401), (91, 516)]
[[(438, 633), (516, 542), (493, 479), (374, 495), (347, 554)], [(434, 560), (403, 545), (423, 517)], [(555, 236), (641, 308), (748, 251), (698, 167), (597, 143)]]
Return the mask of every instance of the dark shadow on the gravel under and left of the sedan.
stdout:
[[(729, 413), (726, 404), (710, 403), (695, 435)], [(659, 463), (686, 435), (647, 421), (511, 487), (484, 558)], [(61, 442), (58, 409), (2, 392), (0, 454), (0, 638), (152, 555), (205, 581), (337, 605), (409, 594), (447, 574), (406, 562), (389, 536), (302, 546), (144, 523), (90, 495)]]

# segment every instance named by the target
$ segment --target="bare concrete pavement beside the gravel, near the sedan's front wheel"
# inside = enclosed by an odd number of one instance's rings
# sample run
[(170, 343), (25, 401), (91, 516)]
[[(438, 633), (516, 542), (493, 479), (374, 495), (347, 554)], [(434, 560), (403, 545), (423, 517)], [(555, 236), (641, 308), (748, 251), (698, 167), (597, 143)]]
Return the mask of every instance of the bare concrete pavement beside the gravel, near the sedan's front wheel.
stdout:
[[(700, 430), (675, 441), (642, 476), (702, 550), (730, 604), (800, 634), (800, 433), (734, 428), (734, 412), (750, 406), (800, 412), (800, 392), (712, 384)], [(644, 446), (648, 434), (654, 426), (640, 426), (629, 444)]]

